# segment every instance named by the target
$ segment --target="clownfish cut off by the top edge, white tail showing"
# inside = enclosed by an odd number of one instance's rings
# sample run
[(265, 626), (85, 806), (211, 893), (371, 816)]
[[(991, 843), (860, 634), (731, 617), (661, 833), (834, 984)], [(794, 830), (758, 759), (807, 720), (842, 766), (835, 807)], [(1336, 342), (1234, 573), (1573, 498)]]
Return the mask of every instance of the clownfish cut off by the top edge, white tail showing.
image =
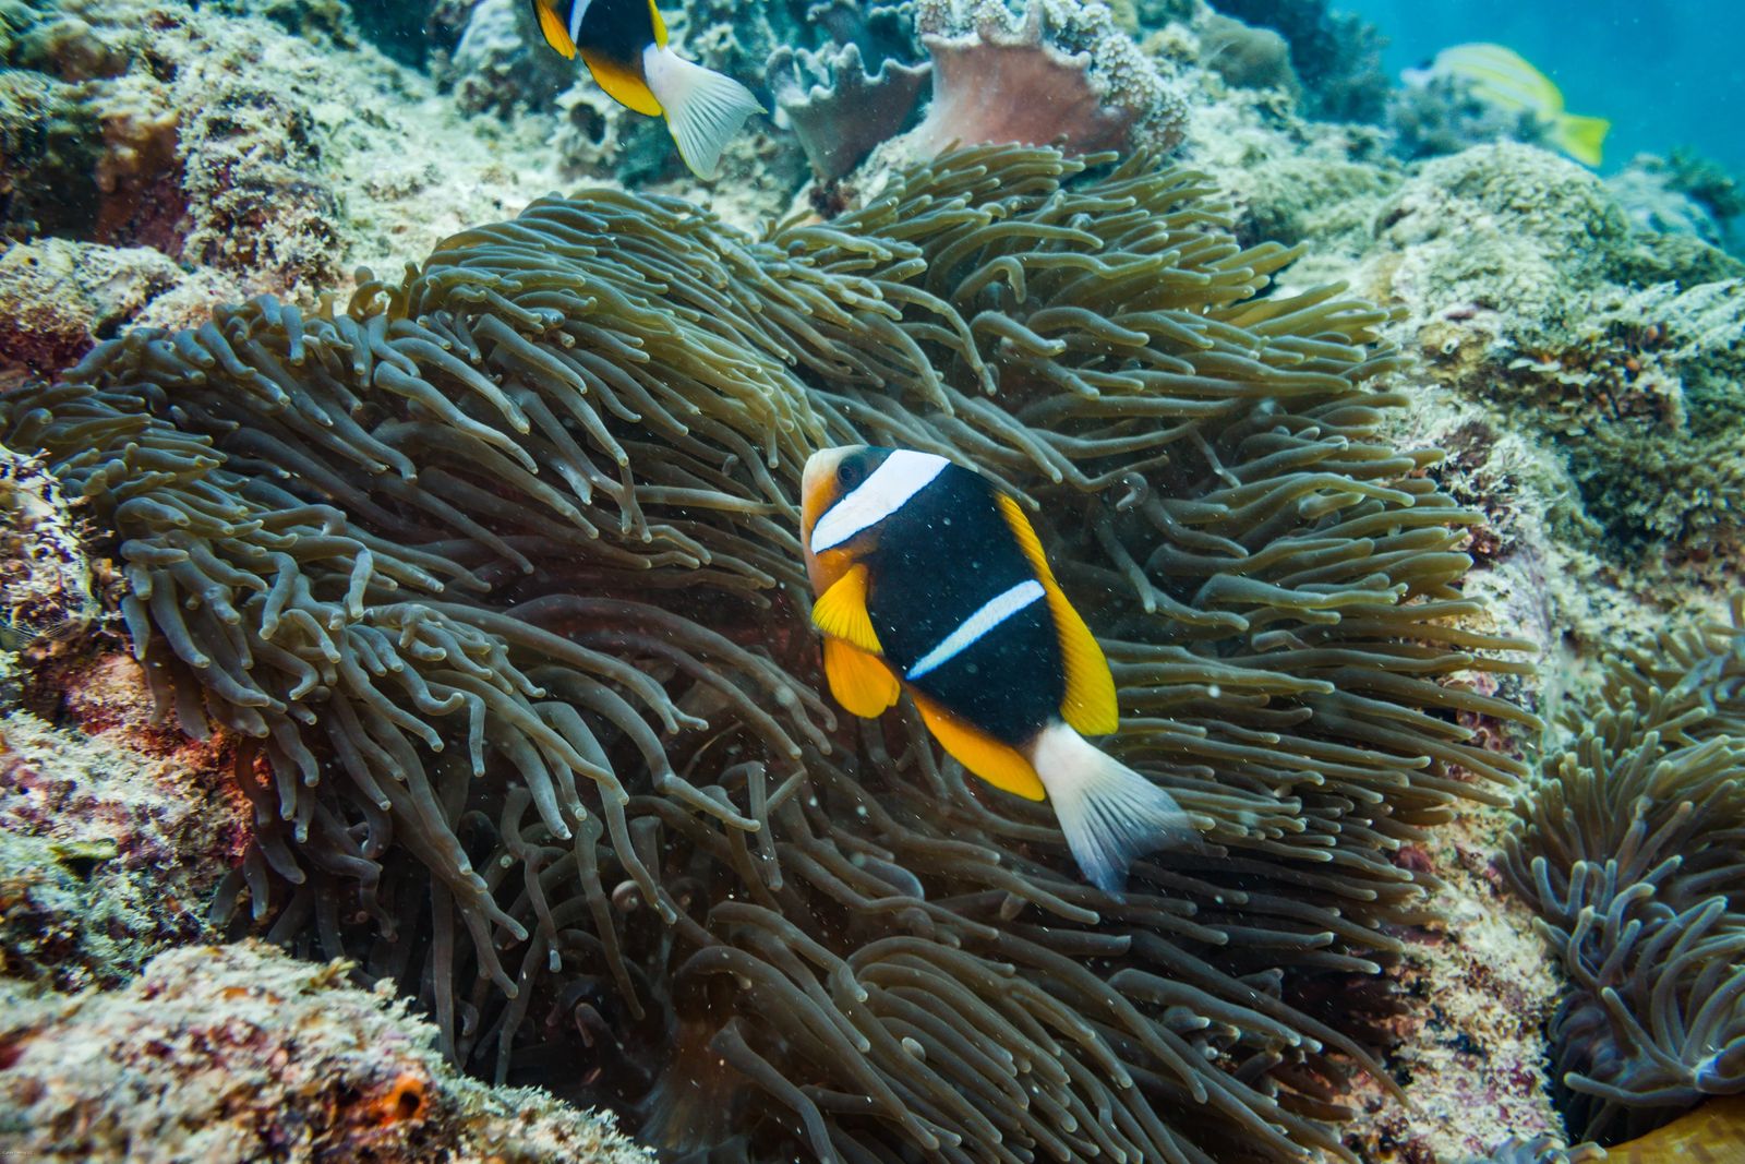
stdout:
[[(714, 178), (721, 150), (745, 119), (764, 112), (750, 89), (667, 47), (654, 0), (532, 0), (546, 44), (583, 63), (606, 94), (637, 113), (665, 117), (679, 157)], [(567, 16), (558, 9), (567, 7)]]

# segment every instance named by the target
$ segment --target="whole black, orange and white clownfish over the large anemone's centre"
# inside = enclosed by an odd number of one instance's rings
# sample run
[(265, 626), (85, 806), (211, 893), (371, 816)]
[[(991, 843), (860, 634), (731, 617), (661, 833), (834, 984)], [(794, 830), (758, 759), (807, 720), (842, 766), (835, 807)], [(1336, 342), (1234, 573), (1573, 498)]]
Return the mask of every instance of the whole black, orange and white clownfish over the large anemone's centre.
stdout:
[(1115, 679), (1019, 503), (944, 457), (866, 445), (806, 461), (801, 544), (824, 674), (872, 719), (907, 691), (970, 773), (1047, 799), (1085, 878), (1197, 832), (1174, 798), (1085, 735), (1119, 722)]

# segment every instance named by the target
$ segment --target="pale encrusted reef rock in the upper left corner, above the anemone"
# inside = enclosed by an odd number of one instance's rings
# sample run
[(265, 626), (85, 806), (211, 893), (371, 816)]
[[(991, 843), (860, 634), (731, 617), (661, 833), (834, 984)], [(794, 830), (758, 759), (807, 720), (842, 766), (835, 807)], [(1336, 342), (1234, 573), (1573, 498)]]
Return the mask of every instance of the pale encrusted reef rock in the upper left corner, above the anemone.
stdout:
[[(335, 286), (551, 185), (503, 164), (529, 127), (462, 127), (340, 3), (14, 5), (0, 65), (5, 236), (152, 248), (222, 274), (222, 298)], [(211, 300), (192, 307), (180, 323)]]

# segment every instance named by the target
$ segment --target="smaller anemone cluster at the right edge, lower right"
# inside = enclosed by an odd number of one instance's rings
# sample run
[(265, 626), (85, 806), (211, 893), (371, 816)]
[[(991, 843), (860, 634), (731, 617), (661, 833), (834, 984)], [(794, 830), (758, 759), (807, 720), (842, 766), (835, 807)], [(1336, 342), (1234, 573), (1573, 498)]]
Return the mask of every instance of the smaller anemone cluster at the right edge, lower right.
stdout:
[(1553, 1082), (1602, 1143), (1745, 1092), (1745, 597), (1733, 621), (1609, 660), (1506, 841), (1569, 976)]

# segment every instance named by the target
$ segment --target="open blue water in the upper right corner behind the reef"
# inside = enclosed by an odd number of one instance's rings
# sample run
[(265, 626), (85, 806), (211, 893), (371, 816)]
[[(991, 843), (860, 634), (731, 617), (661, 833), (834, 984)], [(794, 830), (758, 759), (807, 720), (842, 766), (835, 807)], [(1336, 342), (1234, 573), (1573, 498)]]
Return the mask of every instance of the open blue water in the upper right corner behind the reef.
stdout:
[(1335, 0), (1380, 26), (1386, 65), (1466, 40), (1506, 44), (1544, 70), (1572, 113), (1609, 117), (1605, 164), (1687, 145), (1745, 169), (1742, 0)]

